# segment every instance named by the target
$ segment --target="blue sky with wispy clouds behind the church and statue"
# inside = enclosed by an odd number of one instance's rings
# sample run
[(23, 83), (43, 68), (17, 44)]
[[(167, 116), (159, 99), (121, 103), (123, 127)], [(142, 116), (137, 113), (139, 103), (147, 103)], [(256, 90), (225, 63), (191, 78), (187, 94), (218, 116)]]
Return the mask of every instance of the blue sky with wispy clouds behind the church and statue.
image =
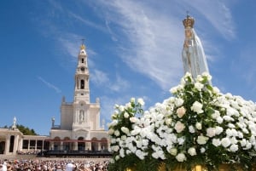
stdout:
[[(49, 134), (63, 95), (73, 101), (84, 38), (90, 101), (101, 119), (113, 105), (142, 97), (162, 102), (183, 77), (186, 11), (207, 55), (212, 84), (256, 101), (256, 3), (253, 0), (4, 0), (0, 6), (0, 127), (17, 123)], [(107, 128), (107, 127), (106, 127)]]

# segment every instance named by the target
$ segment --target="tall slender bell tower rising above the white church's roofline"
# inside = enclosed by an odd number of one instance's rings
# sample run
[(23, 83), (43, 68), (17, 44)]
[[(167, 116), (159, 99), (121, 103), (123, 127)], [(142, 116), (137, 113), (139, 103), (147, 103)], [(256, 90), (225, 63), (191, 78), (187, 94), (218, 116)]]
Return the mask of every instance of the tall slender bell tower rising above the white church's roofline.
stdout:
[(78, 66), (75, 73), (74, 103), (83, 100), (90, 104), (89, 70), (85, 45), (80, 46)]

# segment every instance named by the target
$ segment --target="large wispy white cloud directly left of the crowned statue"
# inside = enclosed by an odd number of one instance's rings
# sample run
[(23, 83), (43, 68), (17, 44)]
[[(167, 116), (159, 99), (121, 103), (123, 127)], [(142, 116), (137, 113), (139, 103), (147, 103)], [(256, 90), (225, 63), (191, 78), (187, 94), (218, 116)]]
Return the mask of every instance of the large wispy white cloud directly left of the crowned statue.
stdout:
[(161, 88), (170, 88), (183, 74), (183, 29), (177, 26), (181, 21), (157, 14), (156, 9), (136, 2), (114, 1), (105, 5), (115, 11), (108, 19), (118, 25), (127, 38), (120, 42), (122, 59), (131, 69), (159, 83)]

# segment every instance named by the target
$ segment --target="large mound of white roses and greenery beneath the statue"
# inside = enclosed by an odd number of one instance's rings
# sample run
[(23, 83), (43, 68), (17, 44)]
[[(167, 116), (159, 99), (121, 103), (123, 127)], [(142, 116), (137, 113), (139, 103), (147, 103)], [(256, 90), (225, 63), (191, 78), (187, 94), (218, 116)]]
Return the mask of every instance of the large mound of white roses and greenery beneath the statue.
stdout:
[[(110, 171), (157, 171), (201, 164), (218, 170), (222, 163), (250, 170), (256, 150), (256, 105), (222, 94), (203, 73), (186, 73), (171, 88), (173, 96), (143, 110), (143, 99), (115, 105), (108, 124), (113, 161)], [(242, 164), (241, 164), (242, 163)]]

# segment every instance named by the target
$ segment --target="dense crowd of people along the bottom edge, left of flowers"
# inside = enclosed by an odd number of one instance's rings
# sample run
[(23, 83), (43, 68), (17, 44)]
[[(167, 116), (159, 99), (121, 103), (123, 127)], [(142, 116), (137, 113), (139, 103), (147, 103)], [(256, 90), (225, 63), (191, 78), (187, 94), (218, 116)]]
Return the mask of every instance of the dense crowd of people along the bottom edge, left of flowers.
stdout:
[(0, 160), (0, 171), (108, 171), (108, 160)]

